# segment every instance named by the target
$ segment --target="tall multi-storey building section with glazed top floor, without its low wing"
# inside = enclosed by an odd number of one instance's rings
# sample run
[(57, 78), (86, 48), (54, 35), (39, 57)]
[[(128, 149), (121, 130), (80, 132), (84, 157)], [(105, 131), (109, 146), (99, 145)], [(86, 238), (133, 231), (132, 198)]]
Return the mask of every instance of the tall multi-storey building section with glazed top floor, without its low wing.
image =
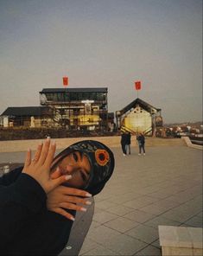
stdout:
[(69, 130), (108, 129), (108, 90), (99, 88), (50, 88), (40, 92), (41, 106), (52, 109), (53, 125)]

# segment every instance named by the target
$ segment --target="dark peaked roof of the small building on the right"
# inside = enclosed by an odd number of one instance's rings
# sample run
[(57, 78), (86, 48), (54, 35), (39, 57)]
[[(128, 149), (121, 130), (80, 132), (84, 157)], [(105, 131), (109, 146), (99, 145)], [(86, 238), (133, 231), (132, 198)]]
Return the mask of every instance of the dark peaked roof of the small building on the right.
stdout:
[(125, 106), (122, 110), (120, 110), (121, 115), (124, 114), (125, 112), (130, 111), (131, 108), (135, 108), (137, 105), (142, 107), (147, 112), (161, 111), (161, 108), (156, 108), (155, 106), (151, 106), (149, 103), (143, 101), (143, 99), (136, 98), (129, 105)]

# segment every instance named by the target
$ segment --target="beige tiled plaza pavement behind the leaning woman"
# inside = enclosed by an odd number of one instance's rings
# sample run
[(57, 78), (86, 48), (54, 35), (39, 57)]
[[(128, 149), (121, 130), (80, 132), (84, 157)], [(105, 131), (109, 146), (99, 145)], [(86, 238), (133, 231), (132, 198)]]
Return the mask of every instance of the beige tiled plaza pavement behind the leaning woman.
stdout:
[[(202, 227), (202, 150), (157, 145), (139, 157), (131, 146), (124, 157), (120, 147), (111, 149), (115, 171), (94, 198), (92, 225), (79, 255), (161, 255), (158, 225)], [(23, 157), (0, 153), (0, 163)]]

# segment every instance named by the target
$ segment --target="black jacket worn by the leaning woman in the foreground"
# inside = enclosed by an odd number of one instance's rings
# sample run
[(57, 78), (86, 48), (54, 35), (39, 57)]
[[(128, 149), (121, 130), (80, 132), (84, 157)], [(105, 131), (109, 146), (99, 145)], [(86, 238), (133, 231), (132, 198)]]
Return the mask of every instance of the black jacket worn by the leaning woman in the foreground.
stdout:
[[(0, 255), (57, 255), (73, 221), (48, 211), (41, 185), (22, 168), (0, 178)], [(70, 211), (75, 215), (75, 211)]]

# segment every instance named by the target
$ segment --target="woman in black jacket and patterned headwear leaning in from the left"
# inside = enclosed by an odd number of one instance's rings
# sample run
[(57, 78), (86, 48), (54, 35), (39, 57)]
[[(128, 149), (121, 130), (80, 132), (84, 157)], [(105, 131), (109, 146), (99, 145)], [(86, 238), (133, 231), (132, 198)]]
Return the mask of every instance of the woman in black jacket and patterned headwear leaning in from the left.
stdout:
[[(0, 178), (0, 255), (58, 255), (76, 210), (97, 195), (114, 170), (111, 150), (98, 141), (72, 144), (54, 157), (55, 144), (39, 144), (23, 167)], [(85, 197), (85, 198), (84, 198)]]

